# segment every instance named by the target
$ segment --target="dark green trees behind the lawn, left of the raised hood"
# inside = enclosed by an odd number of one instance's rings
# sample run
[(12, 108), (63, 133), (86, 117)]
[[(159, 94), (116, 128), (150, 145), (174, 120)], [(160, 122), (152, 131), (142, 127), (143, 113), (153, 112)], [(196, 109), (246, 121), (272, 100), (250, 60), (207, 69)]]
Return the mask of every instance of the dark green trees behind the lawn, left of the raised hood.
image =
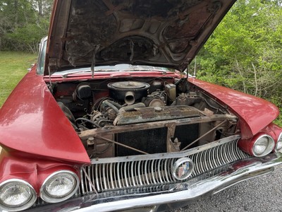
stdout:
[(47, 35), (51, 5), (51, 0), (0, 0), (0, 50), (37, 52)]

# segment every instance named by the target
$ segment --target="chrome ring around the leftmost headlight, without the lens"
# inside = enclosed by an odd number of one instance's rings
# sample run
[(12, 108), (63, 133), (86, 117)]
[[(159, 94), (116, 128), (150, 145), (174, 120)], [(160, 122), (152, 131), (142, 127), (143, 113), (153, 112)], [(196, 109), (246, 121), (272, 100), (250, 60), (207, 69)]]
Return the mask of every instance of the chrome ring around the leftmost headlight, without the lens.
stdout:
[(35, 189), (32, 187), (31, 184), (28, 182), (25, 182), (23, 179), (7, 179), (4, 182), (1, 182), (0, 184), (0, 194), (1, 190), (4, 189), (4, 187), (7, 187), (11, 184), (11, 186), (16, 186), (16, 184), (21, 186), (24, 186), (25, 189), (30, 190), (30, 196), (27, 201), (23, 202), (22, 204), (18, 204), (15, 206), (8, 206), (7, 204), (4, 204), (4, 202), (0, 199), (0, 208), (4, 211), (23, 211), (27, 208), (30, 208), (33, 204), (35, 204), (35, 201), (37, 200), (37, 194), (35, 192)]

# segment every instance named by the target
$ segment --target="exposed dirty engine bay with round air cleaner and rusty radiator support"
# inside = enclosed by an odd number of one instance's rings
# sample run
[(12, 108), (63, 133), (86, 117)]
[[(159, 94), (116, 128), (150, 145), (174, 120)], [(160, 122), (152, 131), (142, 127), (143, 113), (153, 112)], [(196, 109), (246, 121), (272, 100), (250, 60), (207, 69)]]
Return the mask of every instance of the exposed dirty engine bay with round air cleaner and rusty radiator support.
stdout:
[(237, 118), (187, 78), (52, 84), (90, 158), (172, 153), (234, 135)]

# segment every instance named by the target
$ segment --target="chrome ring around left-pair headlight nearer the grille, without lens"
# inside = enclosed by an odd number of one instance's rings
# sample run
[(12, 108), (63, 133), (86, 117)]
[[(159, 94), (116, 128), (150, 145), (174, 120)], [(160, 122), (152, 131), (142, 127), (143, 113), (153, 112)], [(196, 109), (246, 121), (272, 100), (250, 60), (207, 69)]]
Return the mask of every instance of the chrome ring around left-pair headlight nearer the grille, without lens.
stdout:
[[(54, 197), (51, 194), (48, 194), (46, 190), (48, 183), (50, 183), (49, 181), (51, 180), (51, 182), (54, 182), (54, 177), (56, 177), (56, 175), (58, 177), (61, 175), (70, 175), (71, 177), (73, 177), (74, 183), (75, 183), (73, 186), (73, 189), (71, 189), (70, 192), (66, 193), (65, 195), (61, 197), (59, 196)], [(41, 199), (43, 199), (44, 201), (48, 203), (57, 203), (57, 202), (65, 201), (66, 199), (69, 199), (71, 196), (73, 196), (73, 194), (75, 194), (75, 192), (78, 190), (78, 187), (79, 187), (79, 178), (78, 178), (78, 175), (75, 174), (75, 172), (72, 172), (70, 170), (60, 170), (60, 171), (52, 173), (44, 180), (40, 188), (40, 197)]]

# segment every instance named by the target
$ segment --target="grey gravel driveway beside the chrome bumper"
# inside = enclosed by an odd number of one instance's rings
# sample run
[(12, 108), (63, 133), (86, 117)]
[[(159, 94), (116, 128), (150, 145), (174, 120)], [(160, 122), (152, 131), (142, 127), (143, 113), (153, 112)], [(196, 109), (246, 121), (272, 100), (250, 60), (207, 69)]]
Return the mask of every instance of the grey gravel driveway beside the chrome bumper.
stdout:
[(214, 196), (207, 196), (185, 208), (184, 211), (281, 211), (282, 212), (282, 165), (269, 175), (248, 179), (223, 190)]

